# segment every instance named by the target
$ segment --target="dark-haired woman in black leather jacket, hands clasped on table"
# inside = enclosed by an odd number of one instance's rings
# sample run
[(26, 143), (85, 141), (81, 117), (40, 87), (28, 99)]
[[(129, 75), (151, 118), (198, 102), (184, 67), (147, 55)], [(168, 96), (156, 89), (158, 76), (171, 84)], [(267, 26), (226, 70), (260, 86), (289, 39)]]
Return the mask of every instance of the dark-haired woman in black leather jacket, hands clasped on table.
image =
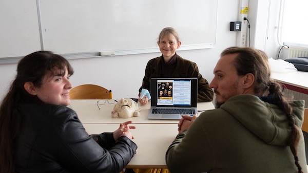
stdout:
[(117, 172), (136, 153), (131, 121), (88, 135), (70, 104), (73, 69), (62, 56), (31, 53), (0, 106), (0, 172)]

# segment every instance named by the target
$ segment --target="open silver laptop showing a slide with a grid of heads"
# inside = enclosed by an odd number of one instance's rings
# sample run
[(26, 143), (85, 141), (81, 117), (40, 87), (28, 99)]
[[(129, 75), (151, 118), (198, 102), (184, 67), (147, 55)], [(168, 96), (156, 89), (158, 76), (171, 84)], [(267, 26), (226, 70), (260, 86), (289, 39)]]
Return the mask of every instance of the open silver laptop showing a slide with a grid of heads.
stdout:
[(198, 78), (151, 78), (148, 119), (176, 119), (197, 114)]

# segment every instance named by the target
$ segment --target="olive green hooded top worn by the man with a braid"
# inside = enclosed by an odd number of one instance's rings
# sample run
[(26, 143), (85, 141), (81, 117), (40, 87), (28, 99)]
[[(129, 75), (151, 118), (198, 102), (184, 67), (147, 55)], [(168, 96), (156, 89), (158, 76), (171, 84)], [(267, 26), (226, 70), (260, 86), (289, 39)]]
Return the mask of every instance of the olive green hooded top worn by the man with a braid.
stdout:
[[(301, 129), (304, 100), (292, 103)], [(291, 127), (285, 113), (254, 95), (237, 95), (219, 109), (203, 112), (188, 131), (169, 146), (166, 163), (171, 172), (298, 172), (286, 145)], [(298, 158), (307, 172), (301, 133)]]

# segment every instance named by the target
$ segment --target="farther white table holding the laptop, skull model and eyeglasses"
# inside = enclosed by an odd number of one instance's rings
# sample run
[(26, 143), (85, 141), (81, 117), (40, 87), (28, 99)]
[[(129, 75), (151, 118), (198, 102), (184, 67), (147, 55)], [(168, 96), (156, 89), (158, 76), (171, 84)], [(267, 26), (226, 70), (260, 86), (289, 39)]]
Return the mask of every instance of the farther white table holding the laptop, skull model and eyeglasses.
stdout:
[[(97, 101), (95, 99), (89, 100), (71, 100), (68, 107), (71, 107), (78, 115), (79, 119), (83, 124), (91, 123), (122, 123), (124, 121), (131, 120), (133, 123), (150, 123), (150, 124), (164, 124), (172, 123), (177, 124), (179, 120), (154, 120), (148, 119), (147, 115), (150, 109), (150, 103), (147, 105), (139, 106), (141, 108), (139, 117), (131, 118), (112, 118), (111, 112), (113, 110), (114, 104), (103, 104), (100, 105), (100, 109), (97, 106)], [(200, 111), (213, 110), (215, 109), (212, 102), (200, 102), (197, 104), (197, 108)], [(201, 112), (198, 112), (200, 114)]]

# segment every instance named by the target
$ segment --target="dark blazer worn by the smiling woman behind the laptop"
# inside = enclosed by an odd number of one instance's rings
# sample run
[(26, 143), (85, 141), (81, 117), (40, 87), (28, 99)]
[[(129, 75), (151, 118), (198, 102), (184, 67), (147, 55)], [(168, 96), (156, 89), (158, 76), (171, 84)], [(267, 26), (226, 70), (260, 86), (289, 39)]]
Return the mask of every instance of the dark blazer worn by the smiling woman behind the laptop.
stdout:
[[(153, 58), (148, 61), (145, 68), (145, 76), (142, 80), (142, 86), (139, 89), (147, 89), (150, 91), (150, 79), (152, 77), (161, 77), (161, 61), (163, 56)], [(184, 59), (177, 55), (176, 68), (172, 76), (170, 77), (190, 77), (198, 78), (198, 102), (212, 101), (214, 92), (209, 88), (208, 82), (199, 73), (198, 66), (195, 62)]]

